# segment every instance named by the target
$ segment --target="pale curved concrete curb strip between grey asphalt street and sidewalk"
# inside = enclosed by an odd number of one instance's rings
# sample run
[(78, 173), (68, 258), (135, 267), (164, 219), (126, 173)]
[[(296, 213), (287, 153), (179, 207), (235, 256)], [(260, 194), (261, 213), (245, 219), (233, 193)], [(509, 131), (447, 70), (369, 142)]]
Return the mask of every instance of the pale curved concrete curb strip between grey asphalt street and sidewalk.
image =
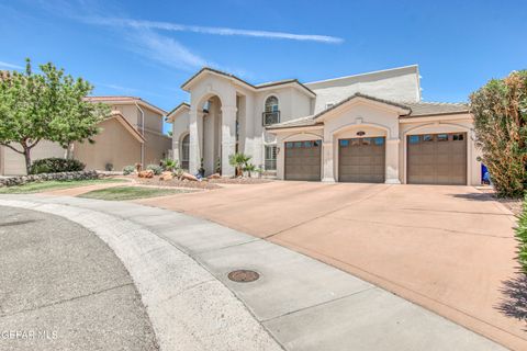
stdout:
[(228, 288), (145, 227), (64, 204), (0, 205), (63, 216), (105, 241), (134, 280), (161, 350), (282, 350)]

